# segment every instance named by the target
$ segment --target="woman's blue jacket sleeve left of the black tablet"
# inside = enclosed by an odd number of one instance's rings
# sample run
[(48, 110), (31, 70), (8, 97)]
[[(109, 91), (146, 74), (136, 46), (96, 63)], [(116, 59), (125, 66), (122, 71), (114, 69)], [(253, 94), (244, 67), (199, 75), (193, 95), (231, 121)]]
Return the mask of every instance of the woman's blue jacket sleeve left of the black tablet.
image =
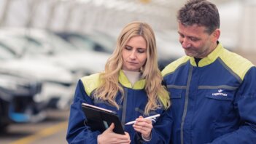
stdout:
[(79, 80), (74, 94), (74, 102), (71, 104), (69, 115), (69, 127), (66, 135), (68, 143), (97, 143), (100, 132), (90, 131), (85, 125), (85, 114), (82, 111), (82, 103), (93, 105), (93, 100), (86, 94), (82, 81)]

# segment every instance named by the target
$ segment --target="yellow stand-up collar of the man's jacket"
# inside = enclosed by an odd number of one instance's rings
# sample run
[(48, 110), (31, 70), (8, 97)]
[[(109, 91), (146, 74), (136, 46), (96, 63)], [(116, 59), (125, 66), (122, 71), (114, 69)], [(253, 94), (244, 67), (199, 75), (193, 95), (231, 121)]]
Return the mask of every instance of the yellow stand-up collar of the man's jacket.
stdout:
[[(217, 47), (212, 51), (207, 57), (204, 57), (202, 60), (199, 61), (198, 67), (203, 67), (206, 65), (209, 65), (211, 63), (214, 63), (214, 61), (217, 59), (217, 57), (220, 57), (220, 53), (224, 50), (222, 47), (222, 44), (218, 44)], [(196, 66), (194, 57), (190, 57), (190, 64), (193, 66)]]

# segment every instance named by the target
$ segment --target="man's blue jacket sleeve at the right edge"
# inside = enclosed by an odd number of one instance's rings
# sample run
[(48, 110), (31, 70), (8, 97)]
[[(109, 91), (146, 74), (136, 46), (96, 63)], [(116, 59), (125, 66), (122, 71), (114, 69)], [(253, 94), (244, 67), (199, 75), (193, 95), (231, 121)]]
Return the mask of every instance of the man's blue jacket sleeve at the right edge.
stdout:
[(235, 108), (240, 116), (240, 127), (222, 135), (212, 143), (255, 143), (256, 142), (256, 68), (247, 71), (244, 81), (236, 93)]

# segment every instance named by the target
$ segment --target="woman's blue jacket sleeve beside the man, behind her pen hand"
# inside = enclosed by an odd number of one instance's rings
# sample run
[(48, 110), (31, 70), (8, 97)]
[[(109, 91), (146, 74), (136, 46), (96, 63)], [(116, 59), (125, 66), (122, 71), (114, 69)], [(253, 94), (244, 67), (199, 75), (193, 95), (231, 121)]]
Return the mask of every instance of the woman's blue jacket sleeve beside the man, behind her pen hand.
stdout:
[(152, 128), (152, 137), (151, 140), (146, 142), (143, 140), (143, 143), (147, 144), (168, 144), (171, 138), (171, 127), (173, 124), (173, 119), (171, 115), (171, 109), (168, 108), (164, 111), (158, 121), (153, 124)]

